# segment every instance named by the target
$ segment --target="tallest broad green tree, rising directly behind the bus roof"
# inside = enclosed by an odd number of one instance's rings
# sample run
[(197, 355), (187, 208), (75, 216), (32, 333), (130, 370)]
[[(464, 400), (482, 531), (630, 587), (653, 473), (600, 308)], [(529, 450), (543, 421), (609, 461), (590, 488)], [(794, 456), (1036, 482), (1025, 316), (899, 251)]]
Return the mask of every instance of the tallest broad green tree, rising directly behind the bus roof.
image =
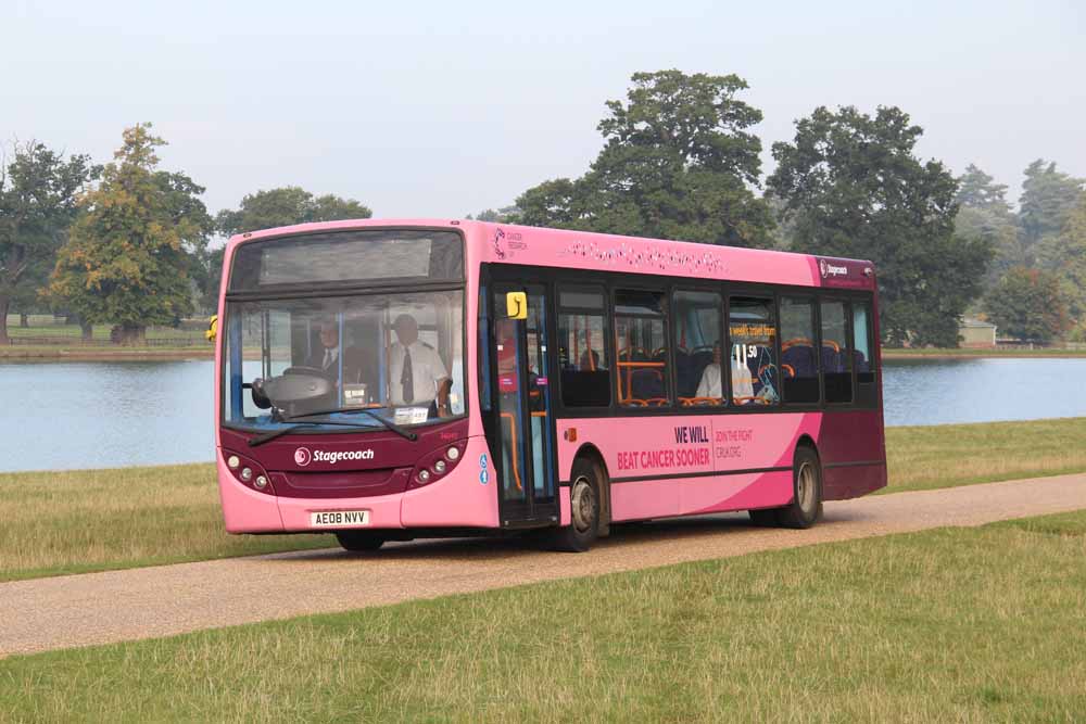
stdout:
[(636, 73), (626, 101), (608, 101), (606, 140), (584, 176), (553, 179), (517, 199), (519, 219), (738, 246), (767, 246), (773, 226), (756, 196), (761, 112), (736, 96), (735, 75)]

